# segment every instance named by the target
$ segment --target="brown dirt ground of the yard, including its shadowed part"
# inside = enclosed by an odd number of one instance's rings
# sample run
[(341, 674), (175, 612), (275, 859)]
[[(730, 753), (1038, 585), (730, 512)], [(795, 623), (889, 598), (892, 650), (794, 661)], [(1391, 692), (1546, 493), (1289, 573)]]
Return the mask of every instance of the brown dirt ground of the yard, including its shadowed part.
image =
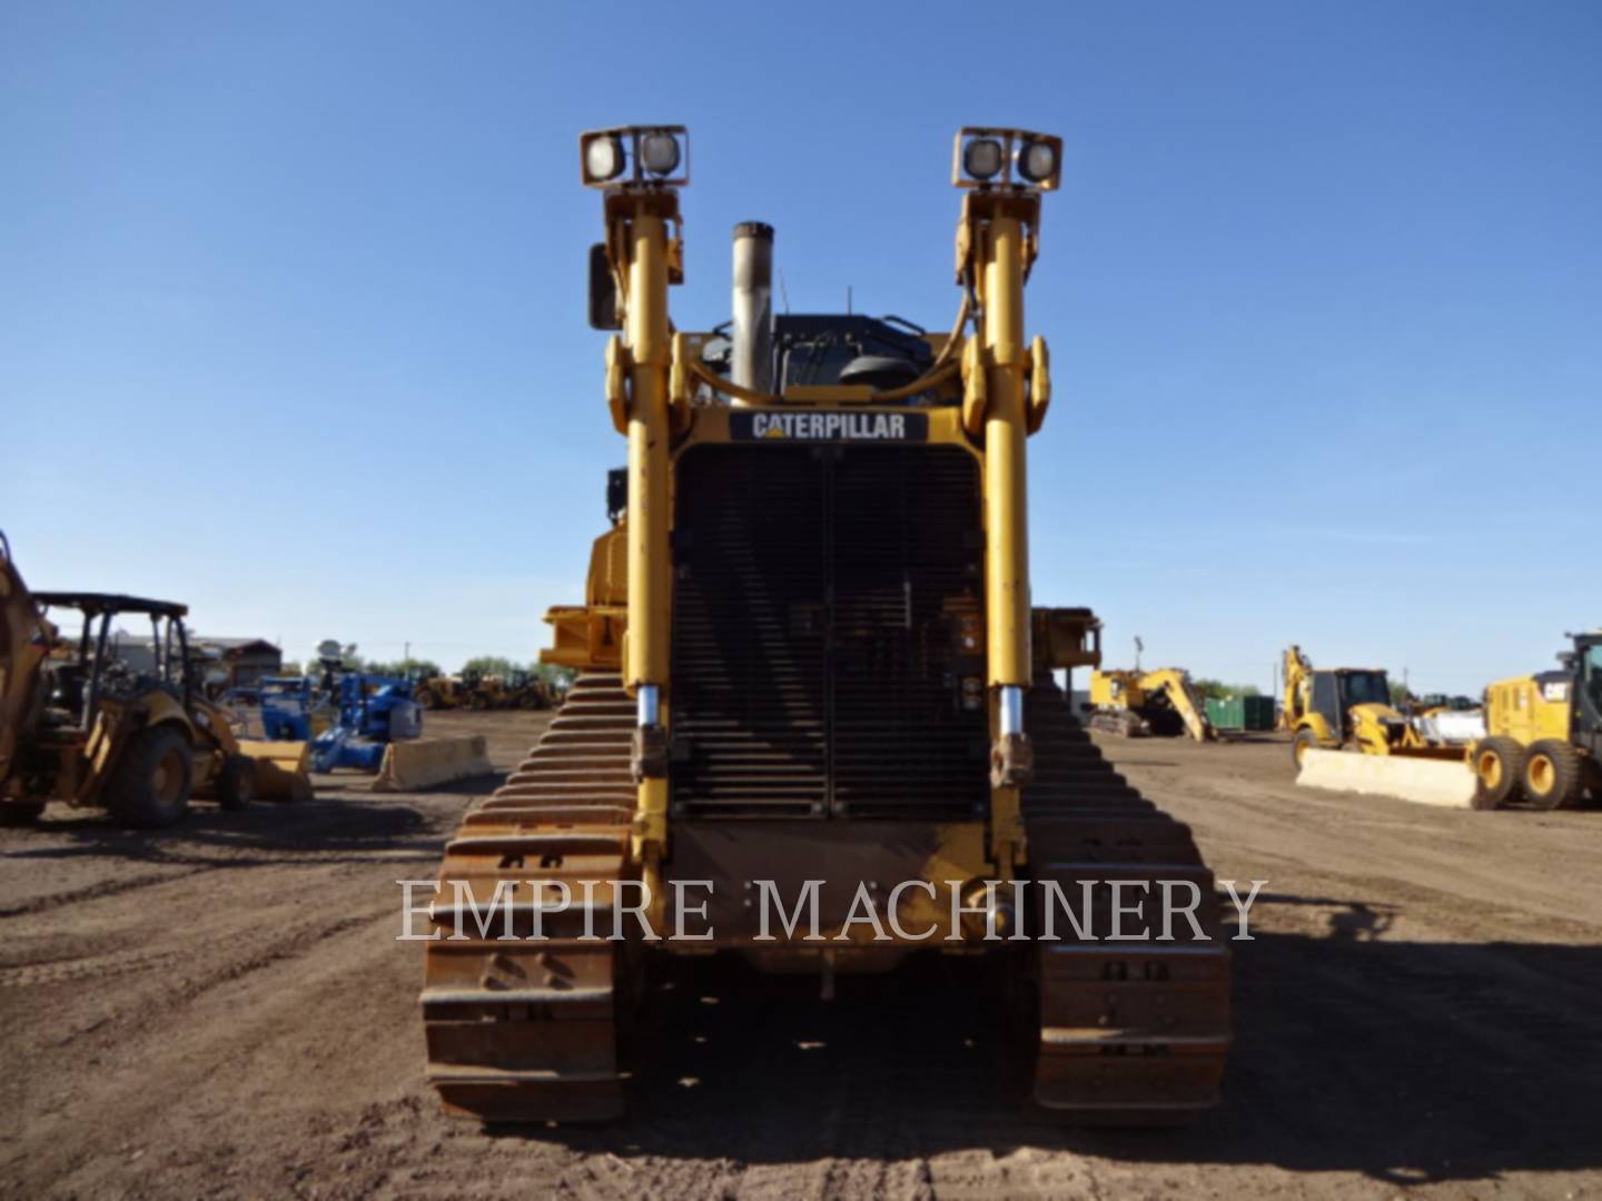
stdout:
[[(545, 714), (431, 716), (509, 767)], [(200, 809), (160, 834), (0, 831), (10, 1196), (1597, 1196), (1602, 813), (1474, 813), (1290, 783), (1283, 743), (1104, 743), (1221, 878), (1224, 1105), (1185, 1131), (1032, 1124), (998, 1017), (944, 970), (705, 970), (647, 1010), (634, 1116), (484, 1131), (423, 1083), (431, 878), (493, 781)]]

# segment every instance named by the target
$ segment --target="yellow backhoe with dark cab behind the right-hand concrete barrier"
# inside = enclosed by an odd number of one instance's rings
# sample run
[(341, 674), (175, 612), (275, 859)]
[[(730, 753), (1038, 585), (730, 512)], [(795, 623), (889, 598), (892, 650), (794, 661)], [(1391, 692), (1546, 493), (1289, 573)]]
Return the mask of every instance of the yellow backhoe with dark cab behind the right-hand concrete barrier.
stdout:
[(1302, 767), (1309, 749), (1355, 749), (1419, 759), (1459, 759), (1461, 748), (1432, 746), (1391, 703), (1381, 668), (1314, 668), (1301, 647), (1285, 652), (1285, 727)]

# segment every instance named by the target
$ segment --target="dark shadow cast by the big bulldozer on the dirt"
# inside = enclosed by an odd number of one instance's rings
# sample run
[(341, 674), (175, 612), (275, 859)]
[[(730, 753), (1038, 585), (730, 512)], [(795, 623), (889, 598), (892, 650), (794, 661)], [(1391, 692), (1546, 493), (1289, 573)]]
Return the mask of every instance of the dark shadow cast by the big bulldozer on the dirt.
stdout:
[[(759, 977), (703, 961), (658, 985), (636, 1041), (633, 1118), (538, 1129), (617, 1156), (809, 1163), (1019, 1147), (1126, 1161), (1272, 1164), (1392, 1185), (1602, 1167), (1602, 948), (1384, 942), (1387, 914), (1333, 906), (1317, 934), (1235, 943), (1224, 1103), (1187, 1129), (1064, 1131), (1020, 1105), (1027, 1049), (976, 964), (891, 977)], [(1256, 916), (1256, 911), (1254, 911)], [(497, 1131), (525, 1135), (527, 1131)]]

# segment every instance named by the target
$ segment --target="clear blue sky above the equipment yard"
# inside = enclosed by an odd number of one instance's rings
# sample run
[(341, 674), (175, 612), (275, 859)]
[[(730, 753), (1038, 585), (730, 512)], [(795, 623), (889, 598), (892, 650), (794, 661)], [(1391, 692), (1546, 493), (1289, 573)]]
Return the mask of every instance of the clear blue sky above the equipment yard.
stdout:
[[(690, 127), (791, 309), (947, 328), (964, 123), (1061, 133), (1035, 596), (1109, 658), (1477, 692), (1602, 625), (1594, 3), (0, 3), (0, 527), (37, 588), (453, 666), (623, 444), (577, 131)], [(1591, 512), (1591, 517), (1586, 517)]]

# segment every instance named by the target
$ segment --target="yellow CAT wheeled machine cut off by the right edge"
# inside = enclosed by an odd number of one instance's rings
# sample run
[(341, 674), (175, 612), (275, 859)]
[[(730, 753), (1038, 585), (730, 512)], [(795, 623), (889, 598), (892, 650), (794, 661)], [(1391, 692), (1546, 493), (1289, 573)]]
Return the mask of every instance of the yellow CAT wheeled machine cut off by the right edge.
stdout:
[(1485, 738), (1469, 751), (1474, 807), (1520, 797), (1572, 809), (1602, 797), (1602, 631), (1570, 634), (1559, 671), (1515, 676), (1485, 689)]

